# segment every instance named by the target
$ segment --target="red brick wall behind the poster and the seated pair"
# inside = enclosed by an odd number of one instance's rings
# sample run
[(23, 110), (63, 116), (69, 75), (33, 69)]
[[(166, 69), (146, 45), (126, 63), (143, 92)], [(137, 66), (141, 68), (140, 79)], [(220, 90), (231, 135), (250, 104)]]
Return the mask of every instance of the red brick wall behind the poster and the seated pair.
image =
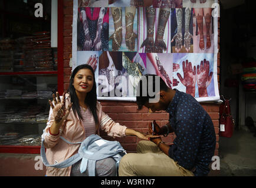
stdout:
[[(69, 78), (71, 75), (70, 58), (72, 58), (72, 22), (73, 22), (73, 0), (64, 0), (64, 90), (68, 89)], [(218, 48), (219, 48), (219, 22), (218, 22)], [(218, 83), (219, 83), (220, 54), (218, 53)], [(100, 101), (103, 111), (107, 113), (115, 122), (125, 125), (140, 132), (147, 132), (147, 123), (156, 120), (159, 125), (165, 125), (168, 122), (169, 114), (166, 112), (147, 113), (147, 109), (137, 110), (136, 102), (120, 101)], [(213, 103), (201, 103), (203, 108), (212, 118), (216, 132), (215, 155), (218, 155), (219, 149), (219, 105)], [(101, 132), (104, 139), (113, 140)], [(172, 143), (175, 139), (174, 134), (163, 137), (166, 143)], [(127, 136), (116, 138), (127, 152), (136, 152), (136, 145), (140, 141), (137, 137)]]

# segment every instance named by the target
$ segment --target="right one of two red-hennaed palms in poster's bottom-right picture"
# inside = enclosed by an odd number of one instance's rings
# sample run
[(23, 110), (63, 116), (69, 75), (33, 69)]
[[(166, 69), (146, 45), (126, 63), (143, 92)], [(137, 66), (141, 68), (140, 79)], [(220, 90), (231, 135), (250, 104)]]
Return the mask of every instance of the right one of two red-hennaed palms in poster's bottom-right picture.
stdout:
[(210, 72), (209, 74), (209, 70), (210, 70), (209, 61), (206, 61), (206, 59), (204, 59), (204, 62), (201, 61), (201, 65), (200, 66), (198, 65), (196, 70), (197, 70), (196, 81), (198, 82), (199, 97), (208, 96), (207, 87), (211, 83), (212, 75), (213, 75), (213, 72)]

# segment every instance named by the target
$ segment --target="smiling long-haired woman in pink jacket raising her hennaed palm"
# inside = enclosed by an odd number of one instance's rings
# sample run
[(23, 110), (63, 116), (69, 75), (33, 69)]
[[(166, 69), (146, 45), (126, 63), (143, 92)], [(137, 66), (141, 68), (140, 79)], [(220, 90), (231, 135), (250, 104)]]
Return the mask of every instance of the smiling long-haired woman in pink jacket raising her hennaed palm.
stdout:
[[(115, 123), (106, 115), (97, 102), (96, 82), (94, 71), (90, 65), (79, 65), (73, 70), (70, 78), (69, 93), (65, 100), (56, 92), (53, 94), (50, 115), (42, 138), (47, 148), (46, 156), (50, 164), (60, 163), (78, 152), (80, 145), (69, 145), (60, 139), (63, 136), (70, 142), (81, 142), (91, 134), (99, 133), (99, 129), (107, 132), (112, 137), (137, 136), (148, 140), (142, 133), (119, 123)], [(88, 172), (80, 173), (80, 162), (70, 167), (57, 169), (47, 167), (47, 176), (87, 176)], [(115, 162), (112, 158), (96, 162), (96, 174), (98, 176), (114, 176)]]

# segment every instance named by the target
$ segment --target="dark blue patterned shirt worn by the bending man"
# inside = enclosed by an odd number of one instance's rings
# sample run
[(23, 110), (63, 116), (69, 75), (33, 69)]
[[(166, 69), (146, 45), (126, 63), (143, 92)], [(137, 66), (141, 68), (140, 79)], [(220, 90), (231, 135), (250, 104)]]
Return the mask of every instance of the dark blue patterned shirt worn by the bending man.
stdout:
[(207, 176), (216, 145), (211, 117), (193, 96), (176, 93), (166, 111), (176, 138), (170, 146), (169, 156), (195, 176)]

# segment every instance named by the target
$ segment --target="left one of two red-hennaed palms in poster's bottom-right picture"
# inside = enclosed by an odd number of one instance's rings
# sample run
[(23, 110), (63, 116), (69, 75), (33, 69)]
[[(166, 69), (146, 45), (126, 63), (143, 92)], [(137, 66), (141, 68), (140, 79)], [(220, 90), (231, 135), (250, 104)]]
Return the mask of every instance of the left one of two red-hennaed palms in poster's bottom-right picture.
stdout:
[(186, 93), (195, 96), (195, 85), (196, 85), (196, 66), (192, 69), (192, 63), (188, 62), (188, 59), (182, 62), (183, 78), (180, 73), (177, 76), (180, 82), (186, 87)]

